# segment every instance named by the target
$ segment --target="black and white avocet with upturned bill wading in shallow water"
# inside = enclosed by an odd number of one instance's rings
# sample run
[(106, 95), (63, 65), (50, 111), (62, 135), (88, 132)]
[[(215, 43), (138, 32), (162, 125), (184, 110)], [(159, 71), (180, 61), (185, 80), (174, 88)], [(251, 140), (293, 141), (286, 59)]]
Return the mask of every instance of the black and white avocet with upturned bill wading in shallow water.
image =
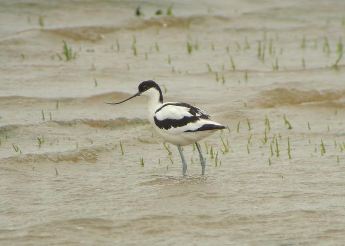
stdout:
[(200, 154), (202, 175), (204, 175), (206, 160), (201, 153), (198, 141), (226, 127), (211, 120), (205, 111), (196, 106), (185, 103), (163, 103), (162, 90), (152, 80), (141, 82), (138, 92), (132, 97), (119, 103), (106, 104), (121, 104), (138, 96), (148, 98), (148, 120), (156, 132), (165, 141), (177, 145), (182, 159), (182, 174), (186, 175), (187, 164), (181, 146), (195, 143)]

